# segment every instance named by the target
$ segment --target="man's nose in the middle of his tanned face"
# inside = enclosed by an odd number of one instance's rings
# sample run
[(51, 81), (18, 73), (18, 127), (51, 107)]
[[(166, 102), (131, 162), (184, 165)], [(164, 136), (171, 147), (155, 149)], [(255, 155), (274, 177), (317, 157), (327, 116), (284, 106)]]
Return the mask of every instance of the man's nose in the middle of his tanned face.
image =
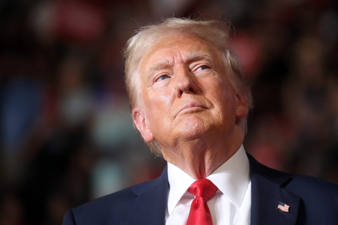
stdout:
[(177, 98), (186, 94), (196, 94), (198, 92), (197, 86), (194, 82), (194, 75), (185, 66), (180, 66), (175, 71), (175, 95)]

